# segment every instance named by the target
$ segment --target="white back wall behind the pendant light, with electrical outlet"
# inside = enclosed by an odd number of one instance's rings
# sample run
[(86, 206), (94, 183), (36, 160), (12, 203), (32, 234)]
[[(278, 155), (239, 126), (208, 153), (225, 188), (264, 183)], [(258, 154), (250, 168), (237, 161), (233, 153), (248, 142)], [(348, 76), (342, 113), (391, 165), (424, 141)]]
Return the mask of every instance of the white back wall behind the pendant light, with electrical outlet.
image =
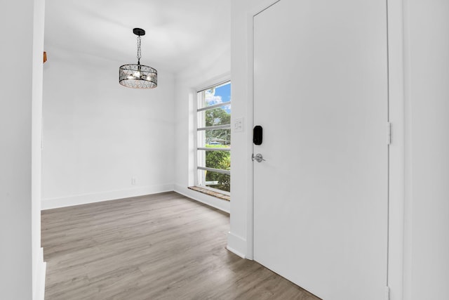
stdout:
[(118, 80), (126, 61), (46, 51), (43, 209), (173, 190), (173, 74), (129, 89)]

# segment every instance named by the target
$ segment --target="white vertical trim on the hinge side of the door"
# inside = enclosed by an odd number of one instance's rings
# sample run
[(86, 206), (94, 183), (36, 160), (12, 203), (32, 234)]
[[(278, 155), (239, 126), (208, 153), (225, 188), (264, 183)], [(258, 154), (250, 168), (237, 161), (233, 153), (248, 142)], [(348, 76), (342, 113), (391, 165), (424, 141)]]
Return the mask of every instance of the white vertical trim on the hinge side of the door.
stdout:
[(405, 208), (405, 104), (403, 1), (387, 0), (389, 122), (388, 280), (391, 300), (403, 294)]

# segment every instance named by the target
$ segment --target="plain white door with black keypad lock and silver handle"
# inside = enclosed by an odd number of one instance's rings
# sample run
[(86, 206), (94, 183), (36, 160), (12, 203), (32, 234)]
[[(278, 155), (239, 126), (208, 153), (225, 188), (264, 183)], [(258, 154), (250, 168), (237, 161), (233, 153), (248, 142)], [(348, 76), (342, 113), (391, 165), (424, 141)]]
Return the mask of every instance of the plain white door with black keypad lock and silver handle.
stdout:
[(325, 300), (384, 299), (387, 11), (281, 0), (254, 17), (254, 259)]

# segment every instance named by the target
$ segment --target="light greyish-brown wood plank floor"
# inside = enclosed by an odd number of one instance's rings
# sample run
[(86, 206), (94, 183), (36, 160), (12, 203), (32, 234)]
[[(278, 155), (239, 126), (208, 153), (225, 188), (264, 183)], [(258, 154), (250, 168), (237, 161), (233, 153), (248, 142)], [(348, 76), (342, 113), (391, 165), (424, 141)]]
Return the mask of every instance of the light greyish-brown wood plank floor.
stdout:
[(228, 231), (177, 193), (42, 211), (46, 300), (319, 299), (227, 251)]

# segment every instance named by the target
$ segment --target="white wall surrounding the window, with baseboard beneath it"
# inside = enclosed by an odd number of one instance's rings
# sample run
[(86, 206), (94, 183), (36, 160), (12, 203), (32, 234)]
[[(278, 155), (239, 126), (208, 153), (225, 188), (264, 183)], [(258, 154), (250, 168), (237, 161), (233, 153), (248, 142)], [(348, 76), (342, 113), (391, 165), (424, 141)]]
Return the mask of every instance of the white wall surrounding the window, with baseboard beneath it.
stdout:
[[(230, 37), (220, 37), (230, 39)], [(194, 185), (194, 101), (196, 91), (213, 84), (231, 79), (230, 77), (231, 51), (222, 48), (222, 51), (210, 53), (199, 62), (194, 63), (176, 76), (175, 84), (175, 191), (194, 200), (209, 204), (212, 207), (229, 212), (229, 202), (208, 195), (189, 190)], [(234, 110), (234, 99), (232, 99)], [(232, 150), (232, 155), (234, 150)], [(231, 155), (231, 157), (232, 157)], [(234, 167), (232, 167), (234, 168)], [(234, 171), (232, 171), (234, 174)], [(234, 175), (232, 175), (234, 176)], [(231, 177), (232, 177), (231, 176)], [(233, 188), (231, 188), (233, 193)], [(232, 197), (234, 200), (234, 197)]]

